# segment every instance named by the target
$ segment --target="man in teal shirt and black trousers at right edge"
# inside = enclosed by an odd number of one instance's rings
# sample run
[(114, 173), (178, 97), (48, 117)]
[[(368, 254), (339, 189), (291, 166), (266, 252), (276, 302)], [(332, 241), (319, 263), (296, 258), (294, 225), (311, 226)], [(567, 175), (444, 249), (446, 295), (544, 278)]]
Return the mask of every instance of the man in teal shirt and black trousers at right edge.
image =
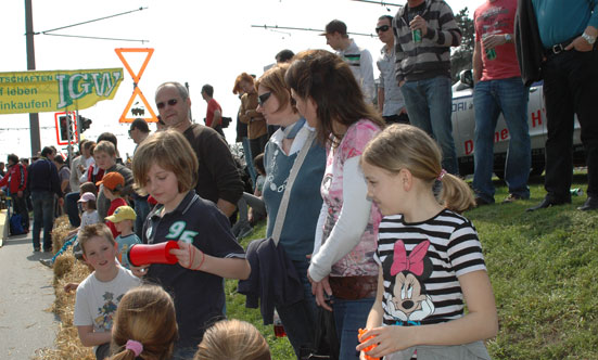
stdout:
[[(571, 203), (574, 115), (582, 128), (586, 152), (587, 200), (580, 210), (598, 209), (598, 0), (521, 1), (527, 11), (520, 25), (535, 15), (544, 47), (542, 75), (548, 138), (546, 140), (546, 197), (529, 211)], [(521, 51), (520, 51), (521, 52)], [(520, 59), (522, 56), (520, 55)], [(523, 69), (534, 68), (526, 63)]]

